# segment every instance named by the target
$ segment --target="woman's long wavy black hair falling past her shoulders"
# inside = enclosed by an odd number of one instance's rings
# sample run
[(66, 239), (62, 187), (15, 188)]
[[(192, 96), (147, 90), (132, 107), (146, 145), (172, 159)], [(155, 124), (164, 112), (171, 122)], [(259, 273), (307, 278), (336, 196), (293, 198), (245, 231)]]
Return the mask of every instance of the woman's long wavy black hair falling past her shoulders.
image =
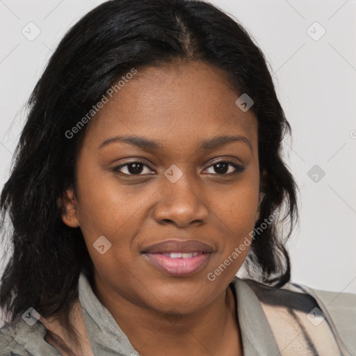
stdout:
[(29, 115), (0, 201), (1, 235), (10, 234), (0, 306), (10, 321), (33, 307), (44, 317), (57, 316), (70, 329), (79, 274), (84, 269), (92, 276), (93, 265), (81, 229), (63, 223), (59, 204), (67, 188), (75, 193), (76, 157), (88, 125), (72, 138), (65, 133), (133, 67), (177, 58), (202, 60), (223, 70), (236, 93), (248, 93), (254, 100), (250, 110), (258, 121), (259, 168), (267, 172), (255, 226), (285, 206), (282, 220), (289, 220), (289, 232), (277, 229), (280, 216), (269, 223), (253, 239), (248, 261), (270, 286), (290, 280), (285, 243), (298, 220), (298, 205), (281, 145), (291, 127), (264, 54), (236, 19), (210, 3), (112, 0), (67, 32), (27, 103)]

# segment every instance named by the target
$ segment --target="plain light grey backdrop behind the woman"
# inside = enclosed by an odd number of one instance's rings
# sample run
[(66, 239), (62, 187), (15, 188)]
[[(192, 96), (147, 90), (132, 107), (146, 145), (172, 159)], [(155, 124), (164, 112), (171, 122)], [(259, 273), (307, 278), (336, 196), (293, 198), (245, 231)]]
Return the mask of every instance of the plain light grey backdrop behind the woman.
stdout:
[[(67, 29), (102, 2), (0, 0), (0, 187), (44, 65)], [(234, 15), (264, 51), (293, 129), (293, 141), (285, 142), (300, 187), (300, 226), (289, 241), (292, 280), (356, 293), (356, 2), (211, 3)], [(32, 41), (22, 34), (29, 22), (40, 29)], [(307, 33), (322, 33), (314, 22), (326, 30), (318, 40)], [(308, 177), (314, 165), (325, 172), (317, 182)]]

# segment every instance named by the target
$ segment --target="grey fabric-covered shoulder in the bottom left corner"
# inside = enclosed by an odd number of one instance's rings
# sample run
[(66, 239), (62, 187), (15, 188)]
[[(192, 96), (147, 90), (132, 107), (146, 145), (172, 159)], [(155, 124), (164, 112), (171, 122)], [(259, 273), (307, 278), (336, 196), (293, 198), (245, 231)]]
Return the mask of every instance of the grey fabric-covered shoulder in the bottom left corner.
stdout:
[[(41, 350), (45, 327), (40, 322), (28, 325), (21, 317), (0, 328), (0, 356), (31, 356)], [(38, 354), (39, 355), (39, 354)]]

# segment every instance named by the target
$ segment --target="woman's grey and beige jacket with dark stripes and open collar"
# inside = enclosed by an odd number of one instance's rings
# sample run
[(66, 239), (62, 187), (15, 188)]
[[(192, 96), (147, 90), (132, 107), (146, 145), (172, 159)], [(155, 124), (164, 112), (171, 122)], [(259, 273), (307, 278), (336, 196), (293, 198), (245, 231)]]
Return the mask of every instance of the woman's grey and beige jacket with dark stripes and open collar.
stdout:
[[(68, 341), (74, 355), (139, 356), (95, 296), (86, 273), (81, 273), (78, 286), (72, 321), (83, 343), (79, 350)], [(238, 277), (230, 286), (236, 296), (244, 356), (356, 356), (356, 295), (291, 283), (275, 289)], [(28, 325), (17, 316), (13, 326), (0, 329), (0, 356), (66, 355), (47, 341), (47, 330), (65, 339), (55, 319), (40, 318)]]

